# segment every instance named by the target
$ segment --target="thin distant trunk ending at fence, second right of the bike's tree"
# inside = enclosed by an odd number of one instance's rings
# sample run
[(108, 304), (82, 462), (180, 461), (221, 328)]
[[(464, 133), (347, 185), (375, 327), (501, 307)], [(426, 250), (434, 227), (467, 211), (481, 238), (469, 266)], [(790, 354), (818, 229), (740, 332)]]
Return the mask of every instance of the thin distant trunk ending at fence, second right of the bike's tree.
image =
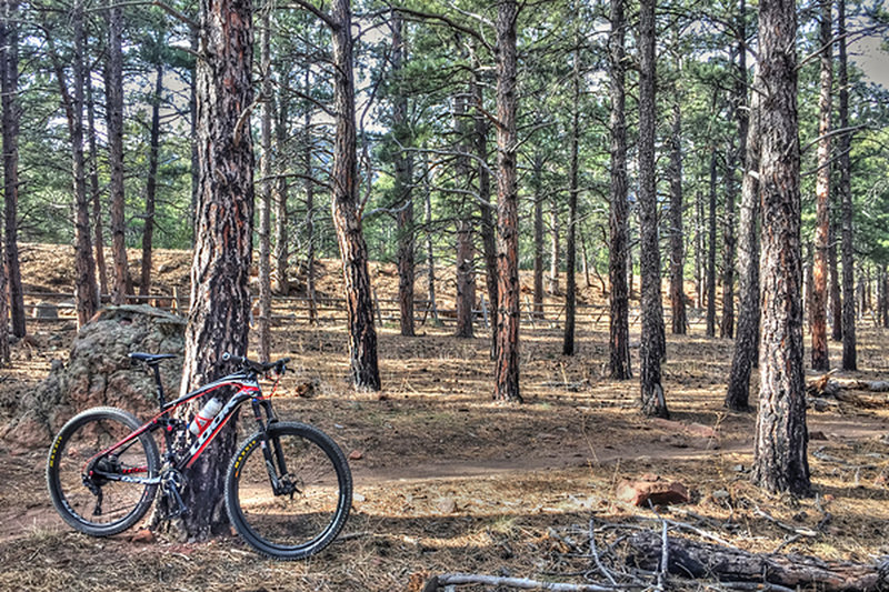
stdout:
[(289, 214), (287, 211), (287, 195), (289, 185), (287, 182), (287, 137), (288, 118), (290, 116), (289, 100), (287, 90), (281, 87), (278, 92), (278, 113), (274, 122), (274, 167), (278, 171), (278, 180), (274, 183), (274, 195), (272, 207), (274, 208), (274, 281), (272, 290), (280, 295), (290, 294), (290, 281), (288, 274), (288, 258), (290, 249), (288, 245), (288, 223)]

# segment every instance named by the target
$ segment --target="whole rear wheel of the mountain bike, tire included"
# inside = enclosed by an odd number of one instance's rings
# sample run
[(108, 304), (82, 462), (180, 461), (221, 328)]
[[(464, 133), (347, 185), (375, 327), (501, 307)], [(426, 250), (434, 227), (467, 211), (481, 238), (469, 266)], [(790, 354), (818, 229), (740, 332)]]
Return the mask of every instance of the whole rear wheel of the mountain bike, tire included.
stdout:
[(126, 411), (96, 408), (71, 418), (52, 441), (47, 486), (56, 510), (74, 529), (110, 536), (132, 526), (151, 506), (157, 484), (117, 480), (158, 474), (151, 435), (120, 444), (139, 427)]

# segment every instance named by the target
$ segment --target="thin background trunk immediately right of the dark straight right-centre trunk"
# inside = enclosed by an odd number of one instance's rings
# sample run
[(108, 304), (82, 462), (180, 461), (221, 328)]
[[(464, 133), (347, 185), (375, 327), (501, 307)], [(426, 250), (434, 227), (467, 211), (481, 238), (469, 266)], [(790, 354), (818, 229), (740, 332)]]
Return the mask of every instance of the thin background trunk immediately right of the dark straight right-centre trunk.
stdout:
[(682, 234), (682, 111), (679, 96), (672, 103), (672, 122), (669, 140), (670, 149), (670, 305), (672, 308), (672, 332), (686, 334), (685, 290), (685, 237)]

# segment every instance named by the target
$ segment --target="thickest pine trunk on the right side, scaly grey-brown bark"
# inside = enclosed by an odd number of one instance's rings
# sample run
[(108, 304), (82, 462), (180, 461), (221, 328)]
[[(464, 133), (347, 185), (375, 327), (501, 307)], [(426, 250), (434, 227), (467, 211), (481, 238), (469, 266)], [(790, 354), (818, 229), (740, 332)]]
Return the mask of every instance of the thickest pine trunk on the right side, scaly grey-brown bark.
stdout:
[(800, 289), (799, 126), (795, 0), (759, 4), (762, 154), (762, 337), (752, 481), (810, 492)]

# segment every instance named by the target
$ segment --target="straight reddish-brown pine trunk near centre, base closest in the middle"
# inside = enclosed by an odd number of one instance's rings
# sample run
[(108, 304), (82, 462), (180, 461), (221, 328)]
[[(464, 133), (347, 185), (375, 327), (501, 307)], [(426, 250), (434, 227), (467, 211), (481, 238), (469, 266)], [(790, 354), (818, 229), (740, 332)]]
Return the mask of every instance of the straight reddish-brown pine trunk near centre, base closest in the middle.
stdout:
[(516, 0), (497, 13), (497, 361), (495, 399), (521, 402), (519, 393), (519, 192), (516, 127), (518, 51)]

